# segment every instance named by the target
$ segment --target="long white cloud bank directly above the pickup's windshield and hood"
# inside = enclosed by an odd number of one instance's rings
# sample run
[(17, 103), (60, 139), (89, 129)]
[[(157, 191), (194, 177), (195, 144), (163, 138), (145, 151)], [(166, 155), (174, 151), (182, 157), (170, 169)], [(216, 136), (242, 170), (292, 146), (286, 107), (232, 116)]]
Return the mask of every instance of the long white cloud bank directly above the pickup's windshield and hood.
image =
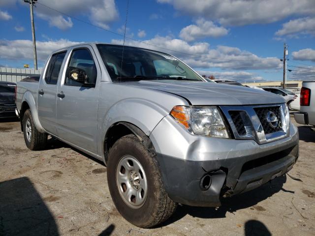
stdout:
[[(123, 43), (122, 40), (115, 39), (112, 40), (112, 42), (119, 44)], [(218, 46), (216, 48), (210, 48), (210, 45), (205, 42), (189, 44), (182, 39), (171, 38), (170, 36), (155, 36), (150, 40), (144, 40), (142, 42), (127, 40), (126, 45), (139, 46), (170, 53), (195, 68), (208, 69), (211, 67), (219, 67), (223, 69), (259, 70), (277, 69), (282, 66), (281, 61), (278, 58), (260, 58), (255, 54), (234, 47)], [(167, 49), (177, 52), (169, 51)]]

